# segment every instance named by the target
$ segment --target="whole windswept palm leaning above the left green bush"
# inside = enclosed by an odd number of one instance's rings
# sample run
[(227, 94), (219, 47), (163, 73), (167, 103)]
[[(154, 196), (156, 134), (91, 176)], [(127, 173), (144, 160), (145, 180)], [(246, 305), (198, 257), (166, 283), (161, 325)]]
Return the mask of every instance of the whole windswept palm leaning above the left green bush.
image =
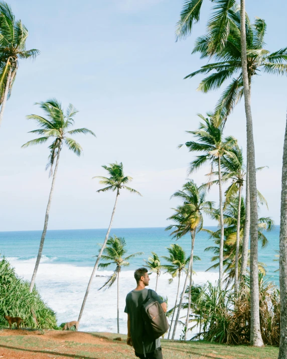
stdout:
[[(76, 134), (90, 134), (95, 136), (95, 134), (86, 129), (76, 129), (76, 130), (69, 130), (71, 126), (74, 125), (74, 116), (78, 112), (78, 110), (72, 105), (69, 104), (66, 112), (64, 113), (64, 110), (62, 108), (61, 102), (56, 100), (55, 98), (50, 99), (46, 102), (38, 102), (36, 103), (40, 105), (40, 108), (44, 111), (46, 114), (46, 117), (40, 116), (38, 114), (30, 114), (27, 116), (28, 119), (34, 119), (37, 123), (37, 125), (40, 127), (37, 130), (30, 131), (29, 133), (40, 135), (41, 137), (38, 137), (37, 139), (28, 141), (25, 145), (22, 146), (22, 148), (26, 148), (29, 146), (34, 145), (40, 145), (43, 143), (46, 143), (50, 138), (53, 139), (52, 144), (49, 146), (50, 155), (49, 155), (49, 162), (46, 166), (46, 170), (50, 169), (50, 176), (53, 176), (48, 205), (46, 209), (45, 214), (45, 222), (44, 222), (44, 228), (41, 236), (40, 241), (40, 247), (39, 252), (33, 272), (33, 276), (30, 283), (30, 292), (33, 291), (37, 271), (39, 268), (40, 260), (42, 257), (43, 247), (44, 247), (44, 241), (46, 237), (47, 227), (48, 227), (48, 221), (49, 221), (49, 212), (50, 212), (50, 206), (51, 206), (51, 200), (54, 192), (54, 186), (58, 171), (58, 165), (59, 165), (59, 159), (60, 159), (60, 153), (63, 147), (63, 144), (65, 144), (69, 150), (74, 152), (77, 156), (80, 156), (82, 154), (82, 148), (81, 146), (71, 137), (70, 135), (76, 135)], [(69, 131), (67, 131), (69, 130)], [(54, 168), (54, 174), (53, 174), (53, 167)]]

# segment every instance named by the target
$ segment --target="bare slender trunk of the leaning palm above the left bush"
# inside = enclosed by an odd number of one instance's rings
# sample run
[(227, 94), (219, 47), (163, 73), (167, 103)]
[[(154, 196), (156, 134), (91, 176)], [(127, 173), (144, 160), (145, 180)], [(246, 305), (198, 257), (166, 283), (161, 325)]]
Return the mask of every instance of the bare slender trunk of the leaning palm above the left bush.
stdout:
[(45, 222), (44, 222), (44, 228), (43, 228), (43, 232), (42, 232), (42, 236), (41, 236), (40, 247), (39, 247), (39, 251), (38, 251), (38, 256), (37, 256), (33, 276), (32, 276), (31, 283), (30, 283), (30, 293), (33, 291), (36, 276), (37, 276), (37, 271), (38, 271), (39, 264), (40, 264), (41, 257), (42, 257), (42, 252), (43, 252), (43, 247), (44, 247), (44, 242), (45, 242), (45, 237), (46, 237), (46, 232), (47, 232), (47, 227), (48, 227), (48, 221), (49, 221), (49, 212), (50, 212), (50, 207), (51, 207), (51, 201), (52, 201), (52, 197), (53, 197), (54, 186), (55, 186), (55, 181), (56, 181), (56, 176), (57, 176), (57, 171), (58, 171), (60, 152), (61, 152), (61, 148), (59, 147), (55, 170), (54, 170), (54, 175), (53, 175), (53, 180), (52, 180), (52, 185), (51, 185), (51, 190), (50, 190), (50, 195), (49, 195), (49, 200), (48, 200), (48, 205), (47, 205), (46, 214), (45, 214)]

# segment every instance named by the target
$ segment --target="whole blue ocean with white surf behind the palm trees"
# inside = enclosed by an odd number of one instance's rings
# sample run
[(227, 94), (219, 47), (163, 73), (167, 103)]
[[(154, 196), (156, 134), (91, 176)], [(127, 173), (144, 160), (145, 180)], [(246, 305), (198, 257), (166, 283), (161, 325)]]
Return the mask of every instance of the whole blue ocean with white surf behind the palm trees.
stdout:
[[(215, 230), (216, 227), (208, 229)], [(38, 230), (0, 232), (1, 255), (10, 261), (16, 273), (25, 280), (31, 280), (41, 234), (42, 231)], [(106, 229), (47, 231), (36, 285), (42, 298), (57, 313), (59, 324), (77, 320), (95, 256), (105, 234)], [(190, 236), (187, 235), (176, 242), (165, 228), (113, 228), (110, 234), (125, 238), (127, 255), (144, 252), (144, 255), (131, 259), (130, 266), (125, 267), (120, 273), (120, 332), (126, 333), (125, 296), (135, 287), (133, 271), (145, 264), (143, 259), (148, 259), (151, 251), (159, 256), (168, 256), (167, 247), (172, 243), (178, 243), (189, 254)], [(278, 285), (279, 274), (275, 272), (278, 262), (274, 261), (274, 256), (277, 254), (275, 251), (279, 249), (279, 226), (265, 232), (265, 235), (269, 243), (265, 249), (259, 249), (259, 261), (266, 265), (266, 277)], [(218, 280), (218, 271), (206, 272), (212, 265), (212, 252), (204, 251), (209, 246), (213, 246), (209, 234), (203, 231), (198, 233), (194, 253), (201, 261), (194, 262), (196, 284), (206, 281), (215, 283)], [(116, 332), (116, 284), (107, 290), (98, 290), (112, 270), (113, 267), (110, 267), (97, 272), (81, 319), (80, 330)], [(169, 278), (168, 274), (160, 276), (158, 293), (168, 297), (168, 305), (171, 308), (175, 301), (177, 279), (169, 284)], [(155, 289), (155, 279), (155, 275), (152, 274), (152, 289)], [(179, 327), (177, 337), (181, 330)]]

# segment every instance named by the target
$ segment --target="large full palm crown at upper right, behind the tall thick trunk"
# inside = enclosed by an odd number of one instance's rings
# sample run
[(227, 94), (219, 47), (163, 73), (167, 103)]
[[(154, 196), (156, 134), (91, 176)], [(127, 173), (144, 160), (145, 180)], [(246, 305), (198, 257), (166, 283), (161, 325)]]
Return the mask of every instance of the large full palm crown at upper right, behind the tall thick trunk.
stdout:
[[(208, 76), (200, 82), (198, 87), (198, 90), (204, 93), (220, 88), (225, 81), (229, 80), (228, 86), (222, 92), (216, 105), (216, 114), (220, 115), (224, 122), (243, 95), (239, 12), (235, 11), (233, 17), (234, 22), (230, 24), (232, 31), (230, 31), (227, 37), (224, 49), (217, 52), (214, 56), (216, 62), (208, 63), (185, 77), (192, 78), (199, 74), (208, 74)], [(251, 80), (251, 78), (258, 75), (259, 72), (286, 75), (287, 48), (272, 53), (264, 48), (264, 35), (266, 33), (265, 21), (256, 18), (254, 24), (251, 24), (247, 18), (246, 28), (248, 32), (247, 68), (249, 79)], [(198, 52), (202, 58), (208, 58), (210, 56), (210, 42), (212, 42), (212, 38), (208, 35), (197, 38), (193, 53)]]

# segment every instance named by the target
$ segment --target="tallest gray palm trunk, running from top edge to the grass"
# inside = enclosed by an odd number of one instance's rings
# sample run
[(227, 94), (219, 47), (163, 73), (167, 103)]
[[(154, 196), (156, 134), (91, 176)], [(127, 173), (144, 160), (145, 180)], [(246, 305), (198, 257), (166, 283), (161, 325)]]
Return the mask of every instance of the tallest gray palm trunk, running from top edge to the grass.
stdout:
[(262, 346), (259, 318), (259, 284), (258, 284), (258, 212), (255, 149), (252, 128), (251, 97), (247, 72), (246, 31), (245, 31), (245, 0), (240, 0), (240, 31), (241, 31), (241, 64), (243, 76), (244, 104), (247, 130), (247, 153), (250, 186), (250, 344)]

